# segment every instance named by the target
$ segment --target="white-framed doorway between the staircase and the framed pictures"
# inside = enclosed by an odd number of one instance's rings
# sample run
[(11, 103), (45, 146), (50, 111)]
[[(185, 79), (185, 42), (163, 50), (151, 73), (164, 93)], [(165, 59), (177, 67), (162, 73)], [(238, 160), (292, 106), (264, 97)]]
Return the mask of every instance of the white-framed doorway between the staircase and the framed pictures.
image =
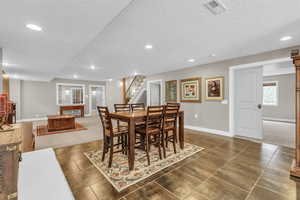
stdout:
[(162, 105), (162, 80), (154, 80), (147, 82), (147, 105)]

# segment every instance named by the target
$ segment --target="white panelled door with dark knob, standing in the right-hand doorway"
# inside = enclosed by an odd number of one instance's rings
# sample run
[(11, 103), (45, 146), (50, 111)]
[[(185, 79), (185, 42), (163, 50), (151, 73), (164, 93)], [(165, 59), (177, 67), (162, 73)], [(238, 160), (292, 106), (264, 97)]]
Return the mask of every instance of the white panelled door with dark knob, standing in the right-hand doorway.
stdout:
[(262, 139), (262, 66), (235, 70), (235, 135)]

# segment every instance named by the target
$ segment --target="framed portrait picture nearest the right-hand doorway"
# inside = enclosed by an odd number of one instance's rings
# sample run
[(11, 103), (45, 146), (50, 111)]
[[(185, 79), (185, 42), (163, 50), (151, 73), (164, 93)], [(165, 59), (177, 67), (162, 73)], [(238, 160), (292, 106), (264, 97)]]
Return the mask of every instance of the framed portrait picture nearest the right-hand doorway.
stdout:
[(206, 101), (222, 101), (224, 99), (224, 77), (205, 79)]

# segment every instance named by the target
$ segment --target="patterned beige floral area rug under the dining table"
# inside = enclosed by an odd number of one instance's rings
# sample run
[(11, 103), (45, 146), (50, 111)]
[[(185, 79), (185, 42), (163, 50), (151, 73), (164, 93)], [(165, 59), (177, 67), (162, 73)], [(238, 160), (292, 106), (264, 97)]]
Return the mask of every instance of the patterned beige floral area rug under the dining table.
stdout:
[(129, 171), (128, 158), (122, 153), (114, 154), (113, 164), (108, 168), (108, 155), (105, 156), (104, 162), (101, 162), (102, 151), (90, 151), (85, 155), (93, 163), (93, 165), (105, 176), (105, 178), (114, 186), (114, 188), (121, 192), (129, 186), (136, 184), (155, 173), (186, 159), (193, 154), (203, 150), (204, 148), (185, 143), (184, 149), (181, 150), (179, 146), (176, 148), (177, 153), (174, 154), (173, 145), (169, 145), (166, 149), (166, 158), (160, 160), (159, 153), (156, 147), (151, 148), (150, 161), (148, 166), (147, 157), (144, 151), (135, 149), (134, 170)]

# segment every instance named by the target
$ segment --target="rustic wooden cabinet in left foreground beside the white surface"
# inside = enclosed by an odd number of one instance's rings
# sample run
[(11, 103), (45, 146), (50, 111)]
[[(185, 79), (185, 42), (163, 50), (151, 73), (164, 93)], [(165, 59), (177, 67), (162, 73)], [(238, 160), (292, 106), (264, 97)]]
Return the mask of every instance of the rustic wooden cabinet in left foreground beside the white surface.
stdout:
[(17, 200), (22, 135), (19, 128), (0, 132), (0, 199)]

